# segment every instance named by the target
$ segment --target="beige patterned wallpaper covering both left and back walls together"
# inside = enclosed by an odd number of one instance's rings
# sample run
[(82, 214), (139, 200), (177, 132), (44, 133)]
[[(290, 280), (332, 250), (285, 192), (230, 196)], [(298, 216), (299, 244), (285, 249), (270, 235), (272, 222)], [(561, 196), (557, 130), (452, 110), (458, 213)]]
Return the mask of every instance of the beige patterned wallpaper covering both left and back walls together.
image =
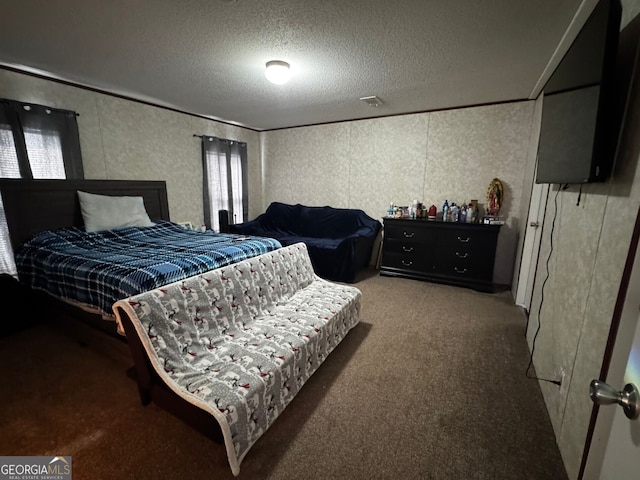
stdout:
[(0, 96), (77, 111), (87, 178), (166, 180), (171, 219), (203, 223), (200, 140), (248, 144), (249, 217), (272, 201), (360, 208), (381, 218), (413, 199), (486, 202), (505, 187), (494, 281), (510, 285), (534, 102), (272, 132), (180, 114), (0, 70)]

